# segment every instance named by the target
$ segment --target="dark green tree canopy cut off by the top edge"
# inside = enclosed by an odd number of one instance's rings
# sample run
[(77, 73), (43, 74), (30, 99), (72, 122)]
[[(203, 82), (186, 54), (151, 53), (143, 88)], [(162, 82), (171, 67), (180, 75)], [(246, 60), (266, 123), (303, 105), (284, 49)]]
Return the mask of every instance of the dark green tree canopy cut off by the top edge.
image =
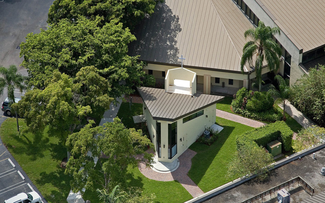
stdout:
[(55, 0), (48, 12), (49, 24), (61, 19), (74, 21), (80, 16), (87, 19), (103, 17), (102, 25), (117, 19), (124, 28), (133, 29), (146, 15), (151, 15), (161, 0)]

